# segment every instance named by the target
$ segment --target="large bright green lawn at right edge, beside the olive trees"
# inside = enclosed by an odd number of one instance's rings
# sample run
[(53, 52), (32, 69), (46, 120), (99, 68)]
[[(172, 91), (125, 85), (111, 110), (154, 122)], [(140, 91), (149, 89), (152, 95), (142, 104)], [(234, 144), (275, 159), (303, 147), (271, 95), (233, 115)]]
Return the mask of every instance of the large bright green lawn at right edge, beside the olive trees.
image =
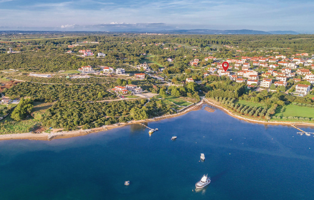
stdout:
[[(283, 112), (281, 112), (283, 110)], [(306, 106), (297, 106), (297, 105), (284, 105), (283, 107), (278, 107), (276, 109), (275, 116), (296, 116), (296, 117), (308, 117), (314, 118), (314, 108), (309, 108)]]

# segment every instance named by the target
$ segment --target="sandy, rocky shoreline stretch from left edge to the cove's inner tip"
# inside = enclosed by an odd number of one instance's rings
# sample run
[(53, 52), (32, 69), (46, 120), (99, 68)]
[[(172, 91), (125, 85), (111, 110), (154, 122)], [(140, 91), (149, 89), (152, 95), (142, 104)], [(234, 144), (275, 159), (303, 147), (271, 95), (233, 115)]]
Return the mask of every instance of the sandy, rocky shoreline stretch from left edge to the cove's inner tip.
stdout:
[(85, 130), (80, 129), (80, 130), (75, 130), (75, 131), (62, 131), (62, 132), (51, 132), (51, 133), (27, 132), (27, 133), (4, 134), (4, 135), (0, 135), (0, 140), (13, 140), (13, 139), (53, 140), (53, 139), (60, 139), (60, 138), (72, 138), (72, 137), (77, 137), (77, 136), (83, 136), (83, 135), (87, 135), (90, 133), (107, 131), (107, 130), (111, 130), (113, 128), (123, 127), (123, 126), (130, 125), (130, 124), (139, 124), (139, 123), (143, 123), (143, 122), (155, 122), (155, 121), (162, 120), (162, 119), (181, 116), (181, 115), (184, 115), (190, 111), (198, 110), (203, 103), (204, 103), (204, 100), (201, 100), (198, 103), (196, 103), (195, 105), (183, 110), (182, 112), (175, 113), (172, 115), (158, 116), (158, 117), (145, 119), (145, 120), (136, 120), (136, 121), (133, 120), (133, 121), (129, 121), (126, 123), (116, 123), (116, 124), (112, 124), (112, 125), (104, 125), (104, 126), (98, 127), (98, 128), (85, 129)]

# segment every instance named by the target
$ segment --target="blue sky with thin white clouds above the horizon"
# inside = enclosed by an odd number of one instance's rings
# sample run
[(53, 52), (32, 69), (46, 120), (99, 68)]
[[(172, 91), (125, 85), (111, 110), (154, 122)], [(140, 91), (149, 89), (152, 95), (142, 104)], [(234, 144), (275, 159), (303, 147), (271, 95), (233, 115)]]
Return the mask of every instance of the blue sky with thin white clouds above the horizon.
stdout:
[(313, 0), (0, 0), (0, 30), (314, 33), (313, 8)]

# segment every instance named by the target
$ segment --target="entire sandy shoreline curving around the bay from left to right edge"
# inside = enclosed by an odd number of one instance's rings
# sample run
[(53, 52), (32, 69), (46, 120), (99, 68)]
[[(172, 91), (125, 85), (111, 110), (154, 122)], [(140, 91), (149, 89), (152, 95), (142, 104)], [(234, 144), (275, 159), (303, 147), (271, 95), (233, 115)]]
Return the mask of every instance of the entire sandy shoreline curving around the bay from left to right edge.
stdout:
[(118, 127), (124, 127), (126, 125), (130, 125), (130, 124), (139, 124), (139, 123), (143, 123), (143, 122), (155, 122), (155, 121), (159, 121), (162, 119), (167, 119), (167, 118), (172, 118), (172, 117), (177, 117), (177, 116), (181, 116), (184, 115), (190, 111), (196, 111), (198, 110), (203, 104), (209, 104), (212, 105), (216, 108), (218, 108), (221, 111), (224, 111), (226, 114), (235, 117), (237, 119), (240, 120), (244, 120), (246, 122), (249, 123), (258, 123), (258, 124), (264, 124), (264, 125), (299, 125), (299, 126), (314, 126), (314, 124), (311, 123), (301, 123), (301, 122), (265, 122), (265, 121), (259, 121), (259, 120), (253, 120), (253, 119), (248, 119), (242, 116), (238, 116), (234, 113), (232, 113), (231, 111), (229, 111), (228, 109), (217, 105), (209, 100), (207, 100), (206, 98), (200, 100), (198, 103), (196, 103), (195, 105), (185, 109), (182, 112), (179, 113), (175, 113), (172, 115), (164, 115), (164, 116), (158, 116), (158, 117), (154, 117), (154, 118), (150, 118), (150, 119), (145, 119), (145, 120), (133, 120), (133, 121), (129, 121), (126, 123), (116, 123), (116, 124), (112, 124), (112, 125), (104, 125), (102, 127), (98, 127), (98, 128), (92, 128), (92, 129), (86, 129), (86, 130), (75, 130), (75, 131), (62, 131), (62, 132), (51, 132), (51, 133), (31, 133), (31, 132), (27, 132), (27, 133), (14, 133), (14, 134), (4, 134), (4, 135), (0, 135), (0, 140), (12, 140), (12, 139), (28, 139), (28, 140), (53, 140), (53, 139), (61, 139), (61, 138), (72, 138), (72, 137), (78, 137), (78, 136), (84, 136), (84, 135), (88, 135), (90, 133), (96, 133), (96, 132), (101, 132), (101, 131), (107, 131), (107, 130), (111, 130), (113, 128), (118, 128)]

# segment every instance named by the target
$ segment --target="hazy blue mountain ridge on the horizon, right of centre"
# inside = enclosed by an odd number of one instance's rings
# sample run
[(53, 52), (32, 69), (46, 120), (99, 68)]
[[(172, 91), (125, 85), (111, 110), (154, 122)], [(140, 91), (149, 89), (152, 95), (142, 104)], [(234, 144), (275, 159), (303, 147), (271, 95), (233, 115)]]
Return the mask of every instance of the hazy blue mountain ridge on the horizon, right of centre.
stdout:
[(276, 30), (276, 31), (261, 31), (261, 30), (210, 30), (210, 29), (189, 29), (189, 30), (162, 30), (157, 32), (167, 32), (167, 33), (180, 33), (180, 34), (207, 34), (207, 35), (218, 35), (218, 34), (300, 34), (292, 30)]

